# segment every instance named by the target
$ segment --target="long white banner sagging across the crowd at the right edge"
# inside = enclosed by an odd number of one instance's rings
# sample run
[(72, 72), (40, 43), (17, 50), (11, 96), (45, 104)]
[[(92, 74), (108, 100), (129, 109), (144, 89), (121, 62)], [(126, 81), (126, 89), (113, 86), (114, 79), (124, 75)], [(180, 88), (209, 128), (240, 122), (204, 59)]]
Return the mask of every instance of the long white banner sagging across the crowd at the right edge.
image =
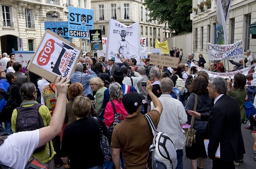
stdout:
[(227, 73), (216, 73), (207, 71), (196, 66), (193, 62), (191, 62), (191, 66), (195, 66), (198, 71), (206, 71), (209, 75), (209, 79), (212, 79), (213, 77), (222, 77), (224, 79), (229, 79), (229, 77), (231, 77), (234, 80), (234, 76), (237, 73), (242, 73), (246, 77), (246, 86), (256, 86), (256, 64), (246, 67), (244, 69), (240, 69), (238, 71), (231, 71)]

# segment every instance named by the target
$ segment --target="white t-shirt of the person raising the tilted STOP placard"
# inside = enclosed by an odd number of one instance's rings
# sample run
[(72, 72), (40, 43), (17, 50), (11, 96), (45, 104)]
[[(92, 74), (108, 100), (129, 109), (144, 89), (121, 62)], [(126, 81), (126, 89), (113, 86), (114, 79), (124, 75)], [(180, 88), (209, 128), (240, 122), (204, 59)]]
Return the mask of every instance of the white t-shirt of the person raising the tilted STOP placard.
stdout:
[(11, 134), (0, 145), (0, 163), (14, 169), (24, 169), (39, 143), (39, 129)]

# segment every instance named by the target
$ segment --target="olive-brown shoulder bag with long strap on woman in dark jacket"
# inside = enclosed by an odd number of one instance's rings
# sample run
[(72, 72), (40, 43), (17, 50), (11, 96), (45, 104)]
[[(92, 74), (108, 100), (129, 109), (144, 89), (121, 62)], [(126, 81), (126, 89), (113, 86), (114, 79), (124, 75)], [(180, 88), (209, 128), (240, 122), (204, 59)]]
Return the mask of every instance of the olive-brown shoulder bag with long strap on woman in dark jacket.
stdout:
[[(194, 109), (196, 111), (196, 104), (197, 104), (197, 94), (195, 94), (195, 102), (194, 102)], [(185, 147), (191, 147), (192, 144), (196, 142), (196, 130), (193, 128), (195, 116), (192, 116), (190, 128), (185, 128)]]

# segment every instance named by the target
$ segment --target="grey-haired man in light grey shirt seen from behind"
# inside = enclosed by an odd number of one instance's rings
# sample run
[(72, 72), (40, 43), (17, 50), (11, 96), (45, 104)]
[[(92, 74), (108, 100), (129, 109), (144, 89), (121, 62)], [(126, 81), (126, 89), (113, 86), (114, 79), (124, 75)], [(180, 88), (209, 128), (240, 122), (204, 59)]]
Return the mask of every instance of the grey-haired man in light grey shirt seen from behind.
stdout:
[[(157, 130), (158, 132), (164, 132), (168, 134), (168, 136), (170, 136), (174, 141), (174, 146), (177, 153), (176, 168), (182, 169), (182, 149), (185, 147), (185, 135), (184, 130), (180, 127), (180, 125), (186, 124), (187, 114), (182, 102), (172, 98), (170, 94), (173, 89), (173, 85), (173, 81), (169, 78), (162, 79), (160, 83), (162, 95), (158, 99), (162, 103), (163, 111), (158, 123)], [(151, 108), (155, 108), (154, 104), (152, 104)]]

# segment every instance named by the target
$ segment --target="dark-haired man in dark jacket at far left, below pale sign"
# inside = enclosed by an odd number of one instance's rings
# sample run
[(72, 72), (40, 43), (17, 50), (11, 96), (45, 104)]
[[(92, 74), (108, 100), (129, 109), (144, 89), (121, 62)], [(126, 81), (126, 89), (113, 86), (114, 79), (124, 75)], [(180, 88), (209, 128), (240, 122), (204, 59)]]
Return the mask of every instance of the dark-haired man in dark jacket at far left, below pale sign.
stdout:
[(15, 62), (12, 67), (17, 77), (17, 80), (14, 82), (16, 85), (20, 87), (23, 83), (29, 82), (28, 77), (22, 75), (22, 64), (20, 62)]

